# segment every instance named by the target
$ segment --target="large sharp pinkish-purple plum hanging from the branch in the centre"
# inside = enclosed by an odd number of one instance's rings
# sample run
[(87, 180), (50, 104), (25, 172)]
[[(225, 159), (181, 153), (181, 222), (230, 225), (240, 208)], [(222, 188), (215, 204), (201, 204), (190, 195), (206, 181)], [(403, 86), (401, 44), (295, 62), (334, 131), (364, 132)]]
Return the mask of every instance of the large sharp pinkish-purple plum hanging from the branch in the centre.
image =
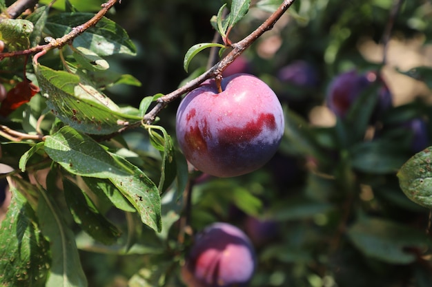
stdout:
[(259, 78), (235, 74), (205, 81), (181, 101), (176, 134), (186, 160), (220, 178), (262, 167), (276, 153), (284, 134), (282, 106)]

